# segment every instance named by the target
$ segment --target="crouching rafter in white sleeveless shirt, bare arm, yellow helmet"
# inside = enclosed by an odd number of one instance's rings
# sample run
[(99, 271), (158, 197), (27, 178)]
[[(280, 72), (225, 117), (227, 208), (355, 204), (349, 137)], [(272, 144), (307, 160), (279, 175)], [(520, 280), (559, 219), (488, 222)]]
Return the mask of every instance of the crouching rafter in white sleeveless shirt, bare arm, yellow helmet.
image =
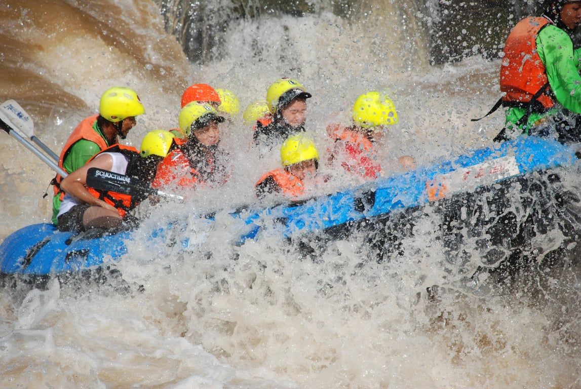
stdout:
[(145, 135), (141, 152), (131, 146), (114, 145), (96, 154), (83, 167), (71, 172), (60, 183), (66, 192), (58, 214), (61, 231), (86, 231), (91, 228), (114, 229), (128, 219), (142, 196), (96, 190), (87, 186), (89, 168), (138, 178), (152, 183), (157, 166), (173, 146), (174, 135), (155, 130)]

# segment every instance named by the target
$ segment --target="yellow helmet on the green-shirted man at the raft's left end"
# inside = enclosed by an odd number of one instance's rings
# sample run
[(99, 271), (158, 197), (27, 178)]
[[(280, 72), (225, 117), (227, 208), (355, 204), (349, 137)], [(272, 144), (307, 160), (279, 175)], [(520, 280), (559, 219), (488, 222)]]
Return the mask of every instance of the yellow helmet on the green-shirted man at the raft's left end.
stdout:
[(114, 123), (144, 113), (145, 108), (139, 96), (130, 88), (113, 87), (101, 96), (99, 114)]

